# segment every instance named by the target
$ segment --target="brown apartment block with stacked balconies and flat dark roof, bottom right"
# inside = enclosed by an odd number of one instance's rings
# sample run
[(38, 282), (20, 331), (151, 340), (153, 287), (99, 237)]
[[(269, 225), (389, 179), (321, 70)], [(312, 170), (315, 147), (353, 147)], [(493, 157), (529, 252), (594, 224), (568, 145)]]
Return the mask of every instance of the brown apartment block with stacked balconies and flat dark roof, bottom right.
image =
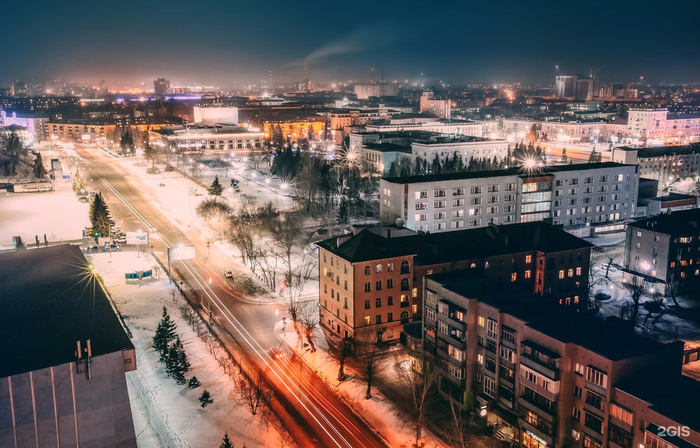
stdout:
[(633, 448), (640, 435), (631, 423), (641, 412), (615, 388), (640, 372), (680, 375), (680, 341), (661, 344), (617, 320), (493, 294), (478, 274), (434, 274), (424, 287), (423, 371), (437, 370), (440, 392), (475, 409), (504, 440)]

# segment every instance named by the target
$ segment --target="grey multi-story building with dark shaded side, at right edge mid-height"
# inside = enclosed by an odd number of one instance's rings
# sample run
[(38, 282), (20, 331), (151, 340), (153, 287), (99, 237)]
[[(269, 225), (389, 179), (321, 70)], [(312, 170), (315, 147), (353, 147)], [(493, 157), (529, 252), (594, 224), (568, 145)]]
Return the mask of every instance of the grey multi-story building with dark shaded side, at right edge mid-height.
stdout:
[(696, 288), (700, 283), (700, 209), (673, 211), (627, 225), (624, 279), (639, 276), (649, 290), (667, 295), (669, 286)]

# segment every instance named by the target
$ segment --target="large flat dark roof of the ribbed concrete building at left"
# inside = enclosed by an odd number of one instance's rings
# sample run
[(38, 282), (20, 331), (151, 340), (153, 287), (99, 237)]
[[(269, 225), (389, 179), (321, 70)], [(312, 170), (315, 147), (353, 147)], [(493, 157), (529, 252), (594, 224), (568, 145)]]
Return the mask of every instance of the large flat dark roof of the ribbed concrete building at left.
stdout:
[(92, 356), (134, 348), (88, 266), (69, 244), (0, 255), (0, 378), (69, 363), (78, 340)]

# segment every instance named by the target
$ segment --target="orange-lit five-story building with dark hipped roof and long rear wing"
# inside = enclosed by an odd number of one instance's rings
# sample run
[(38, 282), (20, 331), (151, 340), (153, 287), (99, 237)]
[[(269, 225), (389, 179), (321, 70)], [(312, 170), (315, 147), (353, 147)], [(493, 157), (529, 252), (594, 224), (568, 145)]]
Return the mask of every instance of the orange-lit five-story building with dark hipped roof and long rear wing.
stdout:
[(321, 323), (342, 337), (374, 326), (386, 340), (421, 315), (423, 276), (433, 272), (478, 270), (493, 290), (575, 305), (587, 290), (592, 244), (538, 222), (449, 234), (382, 226), (316, 246)]

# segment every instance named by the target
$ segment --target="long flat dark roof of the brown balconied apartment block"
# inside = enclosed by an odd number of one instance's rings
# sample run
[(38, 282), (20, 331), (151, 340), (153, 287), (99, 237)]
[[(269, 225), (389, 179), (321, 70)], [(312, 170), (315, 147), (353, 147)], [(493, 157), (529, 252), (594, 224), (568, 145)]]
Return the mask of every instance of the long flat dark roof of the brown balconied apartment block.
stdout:
[[(547, 297), (517, 290), (496, 288), (479, 269), (426, 276), (463, 297), (477, 299), (526, 322), (528, 327), (564, 344), (573, 343), (610, 360), (620, 360), (644, 353), (664, 351), (668, 344), (636, 335), (629, 325), (611, 318), (601, 321), (584, 316), (571, 307), (562, 307)], [(671, 342), (670, 344), (682, 344)], [(679, 345), (679, 355), (682, 349)], [(562, 354), (562, 353), (559, 353)]]

